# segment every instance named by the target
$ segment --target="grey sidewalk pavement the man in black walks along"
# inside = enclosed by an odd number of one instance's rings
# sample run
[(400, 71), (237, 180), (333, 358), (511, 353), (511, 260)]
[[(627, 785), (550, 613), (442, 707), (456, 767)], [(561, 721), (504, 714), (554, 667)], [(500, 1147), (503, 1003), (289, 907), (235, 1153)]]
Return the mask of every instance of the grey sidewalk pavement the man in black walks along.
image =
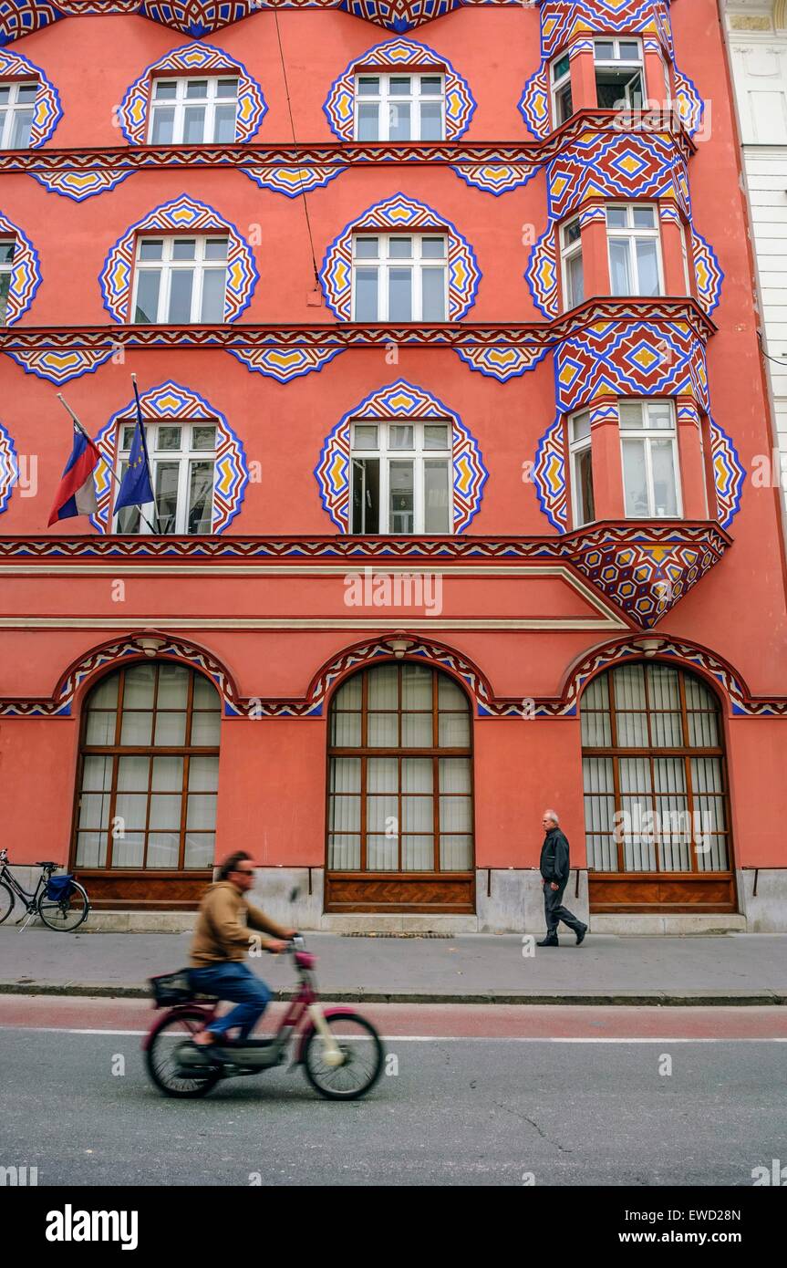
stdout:
[[(189, 961), (190, 935), (0, 928), (0, 993), (141, 998)], [(787, 1004), (787, 935), (376, 937), (310, 933), (324, 999), (371, 1003)], [(527, 954), (530, 952), (530, 954)], [(288, 956), (250, 959), (280, 999)]]

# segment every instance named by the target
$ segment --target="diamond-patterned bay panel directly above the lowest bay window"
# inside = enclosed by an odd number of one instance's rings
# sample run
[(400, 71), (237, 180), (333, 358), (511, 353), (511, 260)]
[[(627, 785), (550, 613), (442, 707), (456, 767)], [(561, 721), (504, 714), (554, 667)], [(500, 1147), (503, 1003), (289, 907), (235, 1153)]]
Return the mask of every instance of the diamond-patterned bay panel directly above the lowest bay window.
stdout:
[(702, 340), (683, 322), (597, 322), (555, 349), (558, 408), (601, 396), (688, 396), (707, 410)]

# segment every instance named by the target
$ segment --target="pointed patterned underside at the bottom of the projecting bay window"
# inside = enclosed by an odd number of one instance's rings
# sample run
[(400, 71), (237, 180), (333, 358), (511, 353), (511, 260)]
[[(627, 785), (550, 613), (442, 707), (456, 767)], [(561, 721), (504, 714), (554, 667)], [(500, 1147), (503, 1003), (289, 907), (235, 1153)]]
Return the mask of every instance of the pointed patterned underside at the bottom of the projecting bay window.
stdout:
[(651, 629), (719, 563), (727, 543), (712, 527), (675, 525), (654, 540), (650, 527), (584, 533), (572, 543), (574, 566), (643, 629)]

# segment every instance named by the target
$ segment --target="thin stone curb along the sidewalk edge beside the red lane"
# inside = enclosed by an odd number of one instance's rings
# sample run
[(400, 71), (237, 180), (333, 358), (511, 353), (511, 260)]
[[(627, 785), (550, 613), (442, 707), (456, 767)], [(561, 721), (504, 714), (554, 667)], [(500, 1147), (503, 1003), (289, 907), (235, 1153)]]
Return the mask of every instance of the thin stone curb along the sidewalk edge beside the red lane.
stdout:
[[(297, 992), (285, 989), (274, 993), (275, 1000), (289, 1000)], [(96, 981), (0, 981), (0, 995), (67, 995), (110, 999), (150, 999), (146, 987), (115, 985)], [(321, 990), (324, 1000), (337, 1004), (572, 1004), (584, 1007), (662, 1007), (662, 1008), (738, 1008), (783, 1007), (787, 992), (778, 990), (615, 990), (599, 992), (504, 992), (483, 993), (441, 990), (364, 990), (360, 987)]]

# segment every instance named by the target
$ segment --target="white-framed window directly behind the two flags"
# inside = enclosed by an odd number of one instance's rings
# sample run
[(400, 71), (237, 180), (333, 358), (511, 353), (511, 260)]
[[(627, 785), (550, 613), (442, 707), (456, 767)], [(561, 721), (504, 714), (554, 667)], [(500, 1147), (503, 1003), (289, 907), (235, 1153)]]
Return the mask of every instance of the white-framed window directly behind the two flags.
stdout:
[[(128, 465), (133, 435), (134, 425), (123, 424), (118, 445), (120, 479)], [(215, 474), (214, 424), (148, 424), (146, 440), (158, 524), (156, 525), (152, 503), (142, 508), (150, 525), (144, 522), (138, 506), (127, 506), (115, 516), (114, 531), (210, 533)]]

